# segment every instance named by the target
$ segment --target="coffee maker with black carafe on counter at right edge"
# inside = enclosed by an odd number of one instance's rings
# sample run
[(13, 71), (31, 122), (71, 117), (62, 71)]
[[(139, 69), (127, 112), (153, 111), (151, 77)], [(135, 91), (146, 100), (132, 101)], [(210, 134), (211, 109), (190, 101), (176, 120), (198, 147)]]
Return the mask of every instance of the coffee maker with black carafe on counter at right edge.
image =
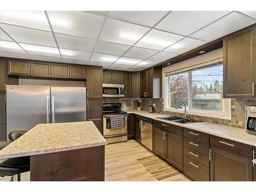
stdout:
[(256, 106), (245, 106), (245, 120), (246, 132), (256, 135)]

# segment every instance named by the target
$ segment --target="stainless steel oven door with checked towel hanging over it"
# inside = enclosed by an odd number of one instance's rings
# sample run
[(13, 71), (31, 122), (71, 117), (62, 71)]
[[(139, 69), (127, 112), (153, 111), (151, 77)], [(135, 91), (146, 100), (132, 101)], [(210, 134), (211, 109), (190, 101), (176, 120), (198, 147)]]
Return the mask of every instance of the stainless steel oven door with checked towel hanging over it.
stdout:
[(110, 117), (103, 115), (103, 136), (125, 135), (127, 134), (127, 115), (124, 117), (124, 127), (122, 129), (111, 129)]

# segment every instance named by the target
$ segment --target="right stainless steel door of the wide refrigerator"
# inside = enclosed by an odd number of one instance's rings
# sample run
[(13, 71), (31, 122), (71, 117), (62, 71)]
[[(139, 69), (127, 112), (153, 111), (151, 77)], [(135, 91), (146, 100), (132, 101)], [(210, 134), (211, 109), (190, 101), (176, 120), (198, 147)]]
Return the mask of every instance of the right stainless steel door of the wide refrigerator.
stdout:
[(52, 123), (86, 121), (86, 88), (51, 87)]

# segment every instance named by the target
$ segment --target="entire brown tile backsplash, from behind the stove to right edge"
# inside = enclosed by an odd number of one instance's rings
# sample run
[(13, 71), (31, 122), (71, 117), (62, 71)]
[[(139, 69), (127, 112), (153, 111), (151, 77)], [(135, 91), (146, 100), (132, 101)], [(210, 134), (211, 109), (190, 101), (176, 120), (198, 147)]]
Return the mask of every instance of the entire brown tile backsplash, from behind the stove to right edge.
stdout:
[[(137, 110), (138, 102), (141, 102), (142, 110), (148, 110), (149, 105), (156, 104), (156, 112), (183, 117), (183, 113), (174, 113), (163, 111), (163, 99), (151, 99), (151, 98), (103, 98), (103, 103), (120, 102), (122, 103), (122, 110)], [(191, 119), (201, 120), (205, 122), (224, 124), (228, 126), (234, 126), (243, 128), (245, 127), (245, 105), (256, 105), (256, 99), (231, 99), (231, 120), (204, 117), (198, 115), (190, 115)]]

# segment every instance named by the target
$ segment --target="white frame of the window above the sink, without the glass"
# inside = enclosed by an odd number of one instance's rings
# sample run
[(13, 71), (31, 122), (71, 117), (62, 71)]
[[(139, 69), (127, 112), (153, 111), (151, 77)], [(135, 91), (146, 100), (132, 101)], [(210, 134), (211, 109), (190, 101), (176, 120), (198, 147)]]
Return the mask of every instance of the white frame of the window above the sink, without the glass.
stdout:
[(184, 68), (181, 70), (176, 70), (173, 72), (163, 73), (163, 110), (168, 112), (175, 112), (175, 113), (184, 113), (183, 109), (175, 109), (175, 108), (169, 108), (168, 107), (168, 83), (166, 83), (166, 79), (168, 78), (168, 75), (178, 74), (178, 73), (188, 73), (188, 114), (190, 115), (198, 115), (198, 116), (204, 116), (204, 117), (213, 117), (213, 118), (220, 118), (220, 119), (231, 119), (231, 99), (224, 99), (223, 105), (222, 105), (222, 111), (211, 111), (211, 110), (198, 110), (198, 109), (192, 109), (191, 108), (191, 100), (192, 100), (192, 94), (191, 94), (191, 71), (197, 70), (204, 67), (209, 66), (215, 66), (218, 65), (218, 63), (222, 63), (223, 59), (216, 59), (213, 61), (201, 63), (196, 66), (192, 66), (189, 68)]

